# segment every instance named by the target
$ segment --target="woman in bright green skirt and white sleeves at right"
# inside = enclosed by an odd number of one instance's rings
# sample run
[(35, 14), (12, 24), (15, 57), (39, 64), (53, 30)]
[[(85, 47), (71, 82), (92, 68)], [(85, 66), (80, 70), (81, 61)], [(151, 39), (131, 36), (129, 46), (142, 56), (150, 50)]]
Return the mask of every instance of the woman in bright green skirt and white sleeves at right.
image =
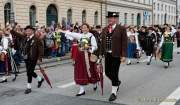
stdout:
[(161, 60), (165, 64), (165, 68), (169, 67), (169, 63), (173, 60), (173, 33), (171, 27), (166, 27), (162, 35), (158, 50), (161, 48)]

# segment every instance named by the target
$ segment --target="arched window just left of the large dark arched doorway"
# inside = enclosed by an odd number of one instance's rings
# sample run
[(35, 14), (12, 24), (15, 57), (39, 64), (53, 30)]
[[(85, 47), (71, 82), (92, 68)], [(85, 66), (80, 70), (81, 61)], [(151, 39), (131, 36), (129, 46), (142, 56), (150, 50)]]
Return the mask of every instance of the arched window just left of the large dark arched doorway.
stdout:
[(36, 24), (36, 7), (33, 5), (29, 10), (30, 25), (35, 26)]

